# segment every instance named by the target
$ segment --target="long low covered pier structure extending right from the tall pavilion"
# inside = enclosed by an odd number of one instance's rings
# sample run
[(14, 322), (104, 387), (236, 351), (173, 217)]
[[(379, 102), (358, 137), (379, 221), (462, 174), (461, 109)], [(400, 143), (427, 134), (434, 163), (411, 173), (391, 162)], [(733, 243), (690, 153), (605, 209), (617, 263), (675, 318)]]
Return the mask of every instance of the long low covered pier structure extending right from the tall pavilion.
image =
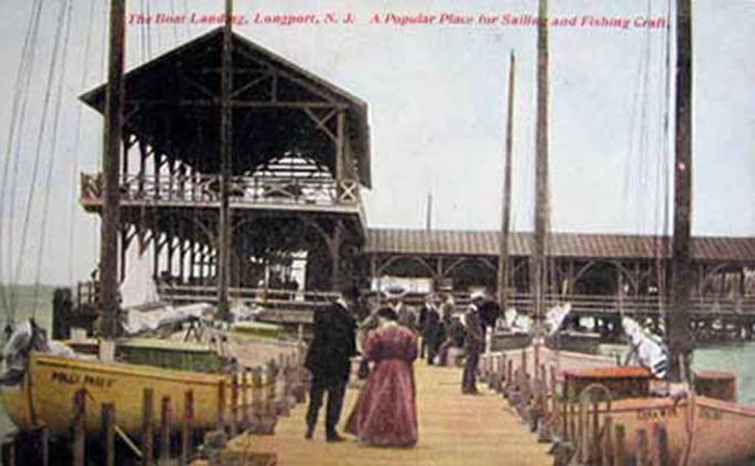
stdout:
[[(432, 280), (464, 297), (474, 288), (497, 288), (498, 231), (370, 229), (365, 257), (373, 277)], [(508, 297), (529, 312), (532, 235), (514, 232)], [(619, 312), (659, 325), (669, 311), (670, 240), (606, 234), (550, 235), (548, 306), (598, 319)], [(755, 238), (693, 238), (692, 319), (699, 339), (753, 338), (755, 328)]]

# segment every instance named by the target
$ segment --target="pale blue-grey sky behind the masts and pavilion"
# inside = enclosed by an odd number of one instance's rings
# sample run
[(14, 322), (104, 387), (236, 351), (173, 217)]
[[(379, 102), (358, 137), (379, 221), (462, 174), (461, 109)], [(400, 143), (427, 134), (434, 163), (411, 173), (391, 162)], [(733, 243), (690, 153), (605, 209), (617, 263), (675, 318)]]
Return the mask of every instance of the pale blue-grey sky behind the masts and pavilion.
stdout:
[[(23, 123), (11, 132), (32, 2), (3, 0), (0, 176), (2, 167), (9, 167), (4, 182), (0, 178), (4, 281), (72, 283), (86, 279), (96, 265), (97, 221), (79, 206), (76, 189), (79, 173), (97, 170), (102, 118), (77, 97), (104, 81), (107, 2), (72, 2), (68, 40), (64, 27), (56, 33), (64, 2), (43, 2), (29, 97), (18, 120)], [(127, 11), (210, 14), (223, 12), (223, 3), (130, 0)], [(752, 237), (755, 1), (693, 3), (693, 235)], [(673, 70), (666, 48), (673, 54), (673, 40), (666, 43), (663, 28), (634, 25), (638, 18), (665, 17), (668, 8), (666, 0), (551, 2), (550, 17), (566, 22), (550, 29), (554, 230), (652, 234), (669, 225), (662, 199), (670, 196), (664, 174), (672, 156), (673, 122), (669, 132), (664, 121), (673, 118), (673, 112), (666, 112), (673, 105), (666, 99), (666, 70)], [(536, 28), (503, 22), (506, 14), (536, 14), (535, 0), (307, 0), (285, 6), (237, 0), (235, 10), (247, 19), (236, 32), (368, 103), (373, 188), (364, 199), (370, 227), (423, 228), (430, 193), (433, 228), (499, 227), (508, 58), (514, 52), (513, 225), (516, 230), (532, 229)], [(254, 22), (258, 13), (351, 14), (354, 21), (259, 24)], [(387, 14), (420, 13), (436, 20), (404, 25), (382, 21)], [(380, 23), (371, 21), (375, 14)], [(472, 22), (441, 24), (443, 14), (469, 17)], [(496, 17), (496, 23), (482, 24), (480, 14)], [(617, 27), (618, 20), (630, 25)], [(127, 68), (211, 28), (130, 24)]]

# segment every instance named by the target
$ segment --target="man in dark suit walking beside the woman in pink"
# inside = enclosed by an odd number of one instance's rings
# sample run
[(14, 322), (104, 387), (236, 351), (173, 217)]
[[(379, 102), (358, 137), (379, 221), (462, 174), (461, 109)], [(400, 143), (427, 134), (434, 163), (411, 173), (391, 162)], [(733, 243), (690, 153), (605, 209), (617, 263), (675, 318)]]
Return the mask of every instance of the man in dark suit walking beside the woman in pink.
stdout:
[[(350, 301), (353, 297), (349, 297)], [(325, 438), (341, 442), (335, 432), (343, 395), (351, 372), (351, 356), (356, 354), (356, 321), (347, 297), (314, 311), (314, 336), (309, 345), (304, 366), (312, 373), (312, 385), (307, 410), (307, 438), (312, 438), (322, 398), (328, 393)]]

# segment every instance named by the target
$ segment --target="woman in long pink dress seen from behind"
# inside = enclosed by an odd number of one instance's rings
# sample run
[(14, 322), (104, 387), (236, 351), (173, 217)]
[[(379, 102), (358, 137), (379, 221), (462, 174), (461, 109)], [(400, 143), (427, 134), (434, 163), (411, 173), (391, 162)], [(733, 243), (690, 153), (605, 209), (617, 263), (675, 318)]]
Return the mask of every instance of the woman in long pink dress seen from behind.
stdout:
[(353, 434), (364, 444), (414, 446), (417, 414), (414, 369), (416, 335), (396, 323), (390, 308), (377, 311), (380, 327), (368, 335), (363, 354), (375, 363), (356, 405)]

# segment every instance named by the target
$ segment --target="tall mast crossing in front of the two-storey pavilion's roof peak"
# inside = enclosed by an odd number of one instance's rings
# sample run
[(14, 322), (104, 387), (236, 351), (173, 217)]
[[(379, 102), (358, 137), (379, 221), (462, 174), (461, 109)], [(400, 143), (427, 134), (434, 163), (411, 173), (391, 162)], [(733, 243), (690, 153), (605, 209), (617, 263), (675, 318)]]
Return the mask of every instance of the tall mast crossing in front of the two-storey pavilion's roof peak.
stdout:
[(229, 319), (228, 287), (230, 281), (230, 208), (228, 184), (231, 176), (234, 122), (230, 93), (234, 79), (232, 20), (234, 1), (226, 0), (226, 23), (223, 28), (223, 63), (220, 66), (220, 213), (218, 219), (218, 317)]

